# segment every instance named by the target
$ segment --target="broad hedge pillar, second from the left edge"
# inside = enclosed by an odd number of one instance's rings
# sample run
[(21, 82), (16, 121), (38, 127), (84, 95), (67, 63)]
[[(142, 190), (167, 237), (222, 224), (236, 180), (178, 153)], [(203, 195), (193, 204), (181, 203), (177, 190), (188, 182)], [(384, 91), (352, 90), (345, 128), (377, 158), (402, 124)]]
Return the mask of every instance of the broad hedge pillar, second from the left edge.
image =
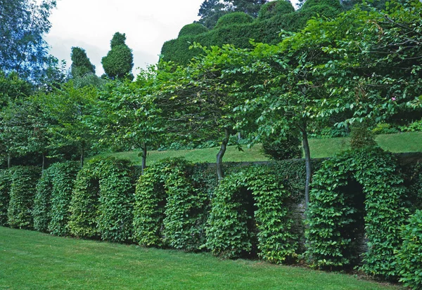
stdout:
[(7, 211), (7, 223), (11, 228), (33, 228), (32, 209), (40, 171), (38, 167), (34, 166), (13, 167)]

